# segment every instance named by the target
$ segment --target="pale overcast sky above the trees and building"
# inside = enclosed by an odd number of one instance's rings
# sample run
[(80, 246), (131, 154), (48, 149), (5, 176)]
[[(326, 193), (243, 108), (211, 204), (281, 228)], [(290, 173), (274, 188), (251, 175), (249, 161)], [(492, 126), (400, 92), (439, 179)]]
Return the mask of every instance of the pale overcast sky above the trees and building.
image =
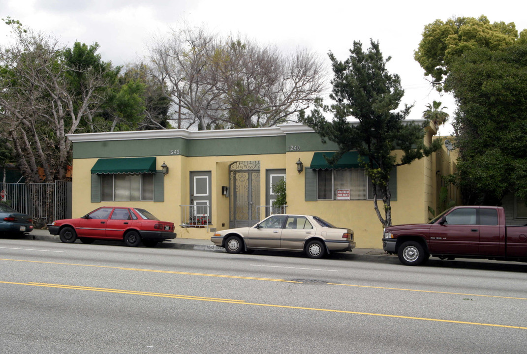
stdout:
[[(399, 74), (403, 103), (415, 106), (410, 119), (419, 119), (425, 105), (443, 102), (453, 115), (450, 96), (431, 89), (423, 70), (414, 61), (423, 28), (439, 18), (486, 15), (491, 22), (514, 22), (527, 28), (527, 3), (523, 1), (345, 1), (345, 0), (0, 0), (0, 17), (11, 16), (25, 26), (60, 38), (67, 46), (75, 41), (100, 44), (104, 61), (123, 65), (146, 54), (149, 38), (176, 28), (183, 19), (205, 25), (221, 35), (240, 33), (282, 51), (307, 47), (324, 57), (333, 52), (339, 60), (349, 56), (353, 41), (369, 46), (378, 40), (388, 70)], [(0, 24), (0, 43), (8, 41), (9, 27)], [(440, 129), (442, 135), (450, 127)]]

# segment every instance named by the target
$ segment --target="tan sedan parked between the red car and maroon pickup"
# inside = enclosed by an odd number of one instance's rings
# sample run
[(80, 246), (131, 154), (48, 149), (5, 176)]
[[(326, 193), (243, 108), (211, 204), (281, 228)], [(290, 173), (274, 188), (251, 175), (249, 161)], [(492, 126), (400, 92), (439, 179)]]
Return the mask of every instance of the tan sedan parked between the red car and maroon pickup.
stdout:
[(309, 258), (355, 248), (353, 231), (312, 215), (271, 215), (250, 228), (223, 230), (210, 238), (229, 253), (250, 250), (306, 252)]

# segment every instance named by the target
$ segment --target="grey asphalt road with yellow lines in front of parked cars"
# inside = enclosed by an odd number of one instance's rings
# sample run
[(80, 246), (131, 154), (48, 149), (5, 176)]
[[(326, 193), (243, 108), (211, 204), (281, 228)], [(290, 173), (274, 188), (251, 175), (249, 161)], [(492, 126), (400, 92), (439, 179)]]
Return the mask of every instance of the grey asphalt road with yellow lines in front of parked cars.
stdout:
[(521, 353), (527, 264), (0, 238), (0, 353)]

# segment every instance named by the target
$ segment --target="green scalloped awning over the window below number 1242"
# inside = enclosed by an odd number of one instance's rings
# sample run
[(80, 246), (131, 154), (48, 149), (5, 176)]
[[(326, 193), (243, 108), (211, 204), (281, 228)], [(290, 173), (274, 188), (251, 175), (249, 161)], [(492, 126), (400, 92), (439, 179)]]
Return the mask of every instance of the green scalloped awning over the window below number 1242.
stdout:
[(155, 158), (99, 159), (92, 174), (155, 173)]

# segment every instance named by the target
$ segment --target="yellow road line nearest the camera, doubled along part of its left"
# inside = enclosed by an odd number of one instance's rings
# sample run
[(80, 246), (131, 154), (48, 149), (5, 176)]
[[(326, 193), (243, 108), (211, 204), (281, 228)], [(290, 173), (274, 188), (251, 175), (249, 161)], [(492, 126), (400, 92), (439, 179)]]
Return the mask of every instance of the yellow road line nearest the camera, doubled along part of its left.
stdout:
[(241, 304), (241, 305), (275, 307), (275, 308), (282, 308), (282, 309), (296, 309), (296, 310), (308, 310), (308, 311), (324, 311), (324, 312), (335, 312), (335, 313), (362, 314), (362, 315), (365, 315), (365, 316), (377, 316), (377, 317), (401, 318), (401, 319), (409, 319), (409, 320), (457, 323), (457, 324), (460, 324), (460, 325), (487, 326), (487, 327), (514, 328), (514, 329), (527, 329), (527, 327), (495, 325), (493, 323), (480, 323), (480, 322), (469, 322), (469, 321), (442, 320), (442, 319), (436, 319), (436, 318), (398, 316), (398, 315), (395, 315), (395, 314), (385, 314), (385, 313), (357, 312), (357, 311), (345, 311), (345, 310), (333, 310), (333, 309), (318, 309), (318, 308), (310, 308), (310, 307), (275, 305), (275, 304), (269, 304), (269, 303), (252, 303), (252, 302), (245, 302), (245, 301), (242, 301), (242, 300), (195, 297), (195, 296), (187, 296), (187, 295), (164, 294), (164, 293), (144, 292), (144, 291), (135, 291), (135, 290), (121, 290), (121, 289), (109, 289), (109, 288), (92, 288), (92, 287), (72, 286), (72, 285), (64, 285), (64, 284), (46, 284), (46, 283), (34, 283), (34, 282), (31, 282), (31, 283), (17, 283), (17, 282), (0, 281), (0, 283), (24, 285), (24, 286), (48, 287), (48, 288), (72, 289), (72, 290), (114, 292), (114, 293), (122, 293), (122, 294), (153, 296), (153, 297), (164, 297), (164, 298), (175, 298), (175, 299), (185, 299), (185, 300), (225, 302), (225, 303), (234, 303), (234, 304)]

